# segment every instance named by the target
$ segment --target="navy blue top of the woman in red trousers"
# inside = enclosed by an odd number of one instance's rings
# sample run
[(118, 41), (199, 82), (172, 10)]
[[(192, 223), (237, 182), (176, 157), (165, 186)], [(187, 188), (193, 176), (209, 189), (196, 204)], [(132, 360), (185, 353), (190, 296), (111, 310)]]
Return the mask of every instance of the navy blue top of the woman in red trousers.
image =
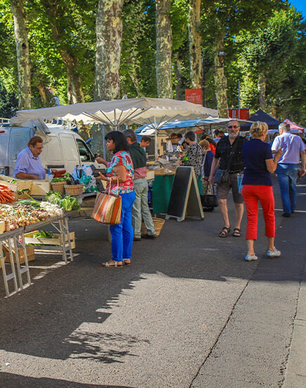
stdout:
[(270, 145), (259, 138), (252, 138), (243, 145), (242, 154), (246, 167), (242, 184), (272, 186), (266, 164), (267, 159), (273, 159)]

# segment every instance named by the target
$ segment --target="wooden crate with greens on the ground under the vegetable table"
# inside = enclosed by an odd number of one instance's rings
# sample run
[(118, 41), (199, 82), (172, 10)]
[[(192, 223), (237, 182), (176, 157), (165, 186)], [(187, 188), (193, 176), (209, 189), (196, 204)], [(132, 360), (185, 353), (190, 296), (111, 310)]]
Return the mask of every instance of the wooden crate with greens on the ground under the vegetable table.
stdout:
[[(63, 252), (63, 243), (60, 238), (60, 234), (53, 233), (53, 238), (34, 238), (33, 235), (39, 231), (32, 231), (30, 233), (25, 233), (25, 244), (38, 244), (34, 246), (35, 252)], [(70, 232), (70, 244), (72, 250), (75, 248), (75, 232)], [(66, 250), (69, 248), (68, 238), (66, 236), (65, 241)]]

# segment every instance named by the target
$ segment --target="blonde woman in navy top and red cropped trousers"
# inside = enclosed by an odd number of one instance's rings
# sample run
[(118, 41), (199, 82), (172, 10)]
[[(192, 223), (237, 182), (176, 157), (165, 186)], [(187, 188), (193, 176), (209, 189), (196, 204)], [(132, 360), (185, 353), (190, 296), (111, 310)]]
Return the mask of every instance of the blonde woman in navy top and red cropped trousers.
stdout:
[(252, 138), (243, 145), (243, 200), (246, 204), (248, 225), (246, 227), (246, 242), (248, 253), (246, 261), (257, 260), (254, 251), (254, 240), (257, 240), (258, 201), (264, 214), (265, 235), (268, 239), (268, 257), (279, 257), (281, 252), (274, 247), (275, 216), (274, 195), (270, 173), (274, 172), (281, 157), (281, 149), (272, 157), (268, 143), (264, 142), (268, 126), (265, 122), (254, 122), (250, 127)]

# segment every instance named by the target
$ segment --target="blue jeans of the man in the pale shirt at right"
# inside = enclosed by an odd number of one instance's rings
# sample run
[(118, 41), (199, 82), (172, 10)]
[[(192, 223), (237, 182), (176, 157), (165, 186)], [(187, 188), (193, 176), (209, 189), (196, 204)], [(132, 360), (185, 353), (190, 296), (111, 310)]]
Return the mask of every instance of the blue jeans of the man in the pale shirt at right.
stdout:
[(296, 180), (298, 179), (298, 165), (279, 163), (276, 169), (281, 189), (283, 212), (290, 214), (295, 211), (296, 205)]

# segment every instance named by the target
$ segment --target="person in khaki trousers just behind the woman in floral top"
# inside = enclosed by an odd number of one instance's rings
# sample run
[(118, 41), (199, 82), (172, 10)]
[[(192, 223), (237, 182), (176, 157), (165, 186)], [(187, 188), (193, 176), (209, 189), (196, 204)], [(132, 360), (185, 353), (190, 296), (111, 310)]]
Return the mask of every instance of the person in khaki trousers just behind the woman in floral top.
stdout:
[[(134, 164), (134, 188), (136, 198), (132, 209), (134, 241), (142, 238), (157, 238), (150, 210), (148, 208), (148, 182), (146, 181), (146, 153), (137, 143), (135, 132), (126, 129), (122, 132), (129, 143), (129, 153)], [(147, 233), (141, 235), (141, 219), (144, 219)]]

